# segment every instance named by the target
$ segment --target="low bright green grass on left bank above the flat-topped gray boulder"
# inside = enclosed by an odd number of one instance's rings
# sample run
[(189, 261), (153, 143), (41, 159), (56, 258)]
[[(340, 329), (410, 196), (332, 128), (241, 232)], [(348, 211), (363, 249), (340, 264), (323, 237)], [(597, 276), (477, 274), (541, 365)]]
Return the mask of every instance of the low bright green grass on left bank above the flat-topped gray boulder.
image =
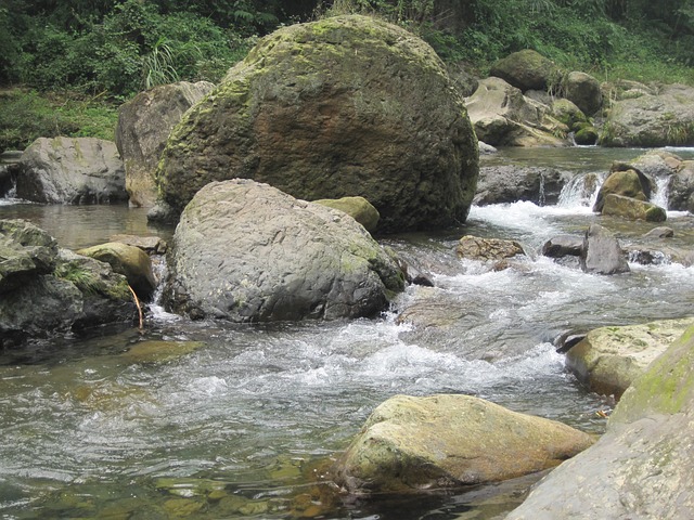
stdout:
[(24, 150), (37, 138), (93, 136), (113, 141), (117, 108), (94, 99), (12, 89), (0, 91), (0, 152)]

